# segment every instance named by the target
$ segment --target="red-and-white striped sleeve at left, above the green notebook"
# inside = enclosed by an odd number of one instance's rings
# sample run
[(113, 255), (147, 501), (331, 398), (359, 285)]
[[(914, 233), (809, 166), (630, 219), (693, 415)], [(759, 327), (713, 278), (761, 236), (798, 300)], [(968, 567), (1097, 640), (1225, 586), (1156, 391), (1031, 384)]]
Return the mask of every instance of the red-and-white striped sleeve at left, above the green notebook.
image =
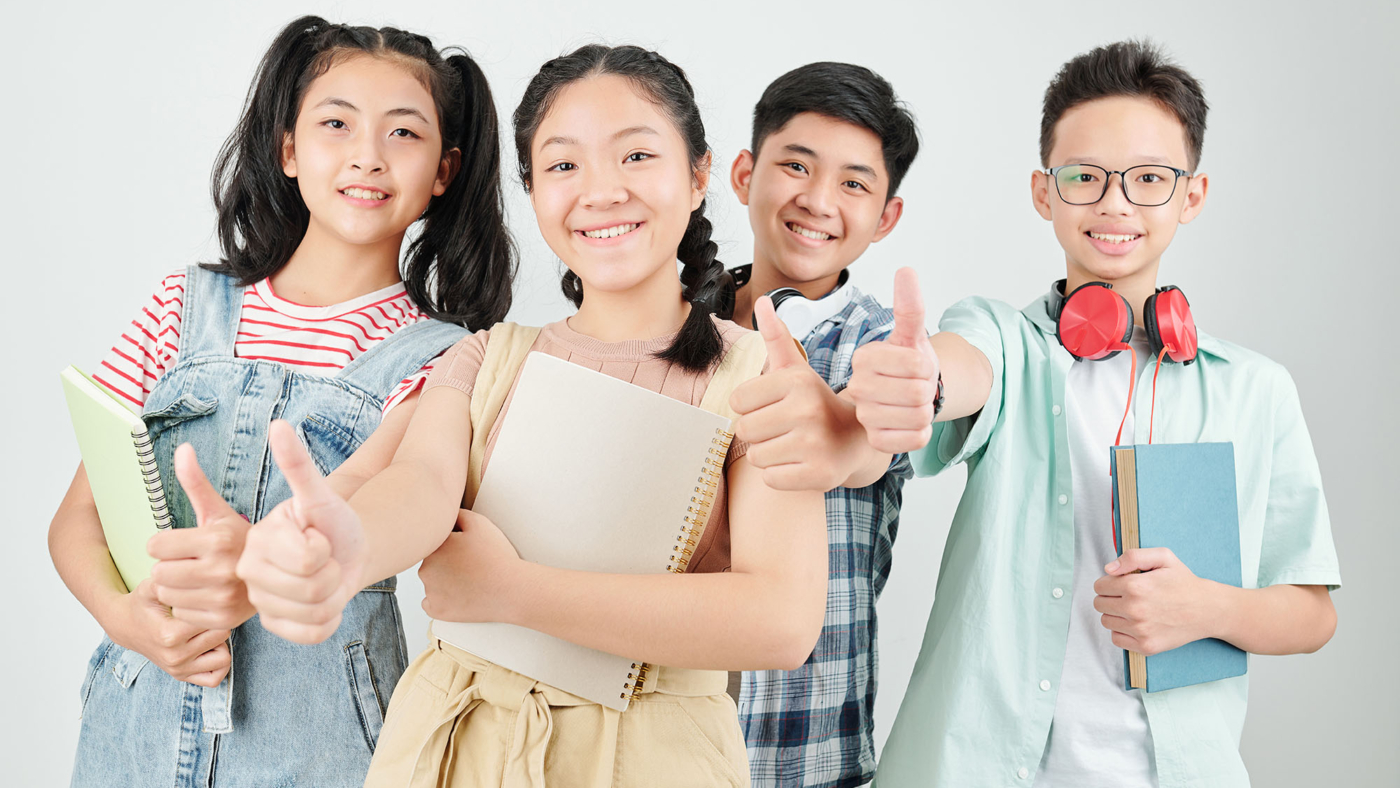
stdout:
[(151, 300), (126, 326), (92, 378), (140, 411), (151, 386), (175, 367), (179, 319), (185, 305), (185, 272), (161, 280)]

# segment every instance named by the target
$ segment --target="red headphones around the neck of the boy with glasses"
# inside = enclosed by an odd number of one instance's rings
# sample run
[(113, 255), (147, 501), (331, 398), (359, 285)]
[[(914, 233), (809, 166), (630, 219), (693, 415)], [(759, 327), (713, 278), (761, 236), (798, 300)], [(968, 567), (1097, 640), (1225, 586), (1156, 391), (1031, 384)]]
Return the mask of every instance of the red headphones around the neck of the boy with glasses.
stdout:
[[(1089, 281), (1064, 294), (1065, 280), (1050, 287), (1050, 319), (1056, 339), (1075, 361), (1113, 358), (1133, 339), (1133, 305), (1105, 281)], [(1196, 319), (1179, 287), (1159, 287), (1144, 304), (1142, 326), (1152, 356), (1190, 364), (1196, 361)], [(1162, 351), (1166, 351), (1165, 354)]]

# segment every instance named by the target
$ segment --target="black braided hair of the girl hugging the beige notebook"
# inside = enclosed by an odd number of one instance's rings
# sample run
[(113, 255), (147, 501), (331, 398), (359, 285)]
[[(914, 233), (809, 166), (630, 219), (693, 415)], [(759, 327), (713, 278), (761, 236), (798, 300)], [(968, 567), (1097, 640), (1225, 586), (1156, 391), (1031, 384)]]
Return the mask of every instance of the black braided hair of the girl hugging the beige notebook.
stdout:
[[(661, 55), (640, 46), (602, 46), (591, 43), (554, 57), (540, 66), (529, 81), (519, 106), (515, 109), (515, 155), (519, 164), (521, 182), (531, 188), (531, 146), (535, 132), (549, 113), (559, 92), (580, 80), (616, 74), (631, 81), (648, 99), (662, 108), (675, 123), (690, 154), (690, 167), (704, 164), (710, 146), (704, 139), (704, 123), (696, 105), (694, 88), (686, 80), (685, 71)], [(710, 315), (731, 318), (734, 315), (734, 279), (715, 255), (720, 248), (711, 235), (710, 220), (704, 216), (704, 202), (690, 211), (690, 224), (676, 249), (682, 263), (682, 298), (690, 302), (690, 315), (671, 347), (657, 357), (679, 364), (682, 368), (701, 371), (720, 361), (724, 342), (720, 329)], [(560, 287), (575, 307), (584, 302), (584, 286), (574, 272), (566, 272)]]

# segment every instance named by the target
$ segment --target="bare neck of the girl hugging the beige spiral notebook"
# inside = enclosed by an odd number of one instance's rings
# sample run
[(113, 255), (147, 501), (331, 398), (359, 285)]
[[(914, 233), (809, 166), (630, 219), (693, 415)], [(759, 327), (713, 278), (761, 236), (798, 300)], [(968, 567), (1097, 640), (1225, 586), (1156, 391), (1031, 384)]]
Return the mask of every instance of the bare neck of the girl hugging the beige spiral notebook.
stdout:
[(575, 332), (599, 342), (655, 339), (680, 329), (690, 304), (680, 298), (680, 280), (672, 266), (624, 291), (589, 288), (584, 283), (584, 304), (568, 319)]

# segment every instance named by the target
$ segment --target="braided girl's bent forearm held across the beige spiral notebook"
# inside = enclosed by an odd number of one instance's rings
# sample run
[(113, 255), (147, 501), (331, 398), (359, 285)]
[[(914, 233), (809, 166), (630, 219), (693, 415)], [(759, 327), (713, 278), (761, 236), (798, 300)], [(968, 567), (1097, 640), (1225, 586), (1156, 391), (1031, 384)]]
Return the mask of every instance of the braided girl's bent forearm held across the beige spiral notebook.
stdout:
[[(825, 574), (617, 575), (522, 563), (504, 616), (514, 624), (657, 665), (790, 670), (816, 644), (825, 588)], [(812, 603), (818, 598), (822, 605)]]

